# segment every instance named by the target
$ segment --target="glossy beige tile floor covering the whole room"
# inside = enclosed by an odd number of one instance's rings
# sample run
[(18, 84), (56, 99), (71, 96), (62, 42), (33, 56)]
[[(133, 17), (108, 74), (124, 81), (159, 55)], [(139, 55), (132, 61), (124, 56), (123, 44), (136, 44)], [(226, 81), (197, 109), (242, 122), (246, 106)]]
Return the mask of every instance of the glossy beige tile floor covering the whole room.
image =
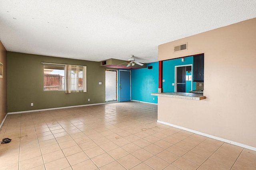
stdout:
[(157, 123), (157, 105), (8, 115), (0, 170), (256, 170), (256, 152)]

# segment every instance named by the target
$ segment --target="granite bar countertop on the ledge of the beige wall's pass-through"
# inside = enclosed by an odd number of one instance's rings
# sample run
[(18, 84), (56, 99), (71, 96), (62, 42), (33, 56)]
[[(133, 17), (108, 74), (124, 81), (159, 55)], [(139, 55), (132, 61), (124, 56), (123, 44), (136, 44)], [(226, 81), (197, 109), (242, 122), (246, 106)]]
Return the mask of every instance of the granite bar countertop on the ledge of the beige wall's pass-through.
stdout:
[(162, 96), (168, 98), (180, 98), (190, 100), (203, 100), (206, 97), (198, 93), (184, 93), (184, 92), (165, 92), (165, 93), (151, 93), (152, 96)]

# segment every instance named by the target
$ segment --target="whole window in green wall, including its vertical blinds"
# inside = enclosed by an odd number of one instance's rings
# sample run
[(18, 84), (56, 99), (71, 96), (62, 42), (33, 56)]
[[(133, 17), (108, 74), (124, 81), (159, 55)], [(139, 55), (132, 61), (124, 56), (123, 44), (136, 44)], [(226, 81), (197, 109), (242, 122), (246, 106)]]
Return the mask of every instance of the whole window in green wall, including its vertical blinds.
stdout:
[(44, 91), (86, 92), (86, 66), (44, 63)]

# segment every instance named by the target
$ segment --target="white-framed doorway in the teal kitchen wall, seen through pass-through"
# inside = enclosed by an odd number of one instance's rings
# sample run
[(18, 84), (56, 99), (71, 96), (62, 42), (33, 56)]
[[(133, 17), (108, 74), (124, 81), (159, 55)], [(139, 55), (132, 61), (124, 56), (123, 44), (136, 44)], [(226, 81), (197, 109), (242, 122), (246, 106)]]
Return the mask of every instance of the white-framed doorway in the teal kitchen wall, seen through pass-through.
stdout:
[(189, 93), (192, 86), (192, 64), (175, 66), (175, 92)]

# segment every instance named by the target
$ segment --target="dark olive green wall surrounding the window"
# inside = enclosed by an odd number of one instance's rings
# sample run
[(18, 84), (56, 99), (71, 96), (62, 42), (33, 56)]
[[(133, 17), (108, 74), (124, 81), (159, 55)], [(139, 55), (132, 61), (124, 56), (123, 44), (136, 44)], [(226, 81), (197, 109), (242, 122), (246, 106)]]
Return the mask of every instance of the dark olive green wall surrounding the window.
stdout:
[[(87, 92), (44, 92), (42, 62), (87, 66)], [(98, 62), (7, 52), (7, 72), (8, 112), (105, 102), (105, 68), (100, 67)], [(34, 103), (34, 106), (30, 106), (30, 103)]]

